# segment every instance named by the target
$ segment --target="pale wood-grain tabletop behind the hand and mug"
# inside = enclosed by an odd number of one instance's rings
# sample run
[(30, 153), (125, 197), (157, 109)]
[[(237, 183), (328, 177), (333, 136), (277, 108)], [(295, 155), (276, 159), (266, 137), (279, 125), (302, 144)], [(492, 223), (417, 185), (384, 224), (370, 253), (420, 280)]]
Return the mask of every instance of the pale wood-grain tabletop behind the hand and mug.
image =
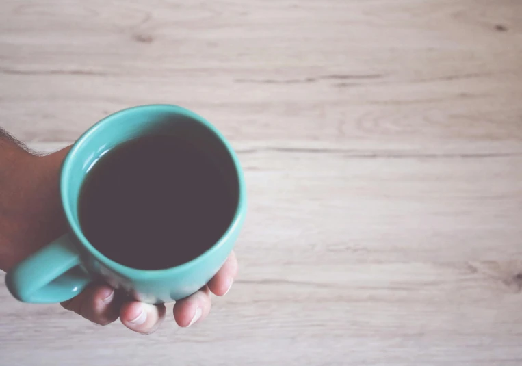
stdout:
[(1, 1), (34, 148), (183, 105), (237, 149), (239, 280), (193, 328), (0, 285), (0, 365), (522, 365), (522, 1)]

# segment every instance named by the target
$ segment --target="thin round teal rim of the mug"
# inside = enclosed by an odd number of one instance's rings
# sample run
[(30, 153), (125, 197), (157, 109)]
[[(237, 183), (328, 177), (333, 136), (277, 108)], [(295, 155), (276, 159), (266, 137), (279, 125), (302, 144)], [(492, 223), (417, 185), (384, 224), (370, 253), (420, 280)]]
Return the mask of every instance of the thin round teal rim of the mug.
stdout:
[[(185, 117), (191, 118), (192, 120), (200, 123), (204, 127), (206, 127), (211, 133), (213, 133), (218, 140), (220, 140), (221, 144), (226, 148), (226, 151), (229, 153), (231, 160), (233, 162), (235, 172), (237, 174), (237, 183), (238, 183), (238, 199), (237, 206), (235, 208), (234, 216), (226, 229), (223, 235), (214, 243), (209, 249), (205, 250), (202, 254), (198, 255), (194, 259), (191, 259), (188, 262), (185, 262), (181, 265), (177, 265), (174, 267), (162, 268), (158, 270), (140, 270), (139, 268), (128, 267), (127, 265), (122, 265), (116, 261), (113, 261), (109, 257), (106, 257), (105, 254), (101, 253), (99, 250), (94, 248), (92, 244), (88, 241), (88, 239), (83, 235), (83, 231), (79, 226), (79, 220), (75, 218), (73, 214), (73, 210), (70, 205), (70, 199), (68, 196), (69, 188), (68, 181), (70, 177), (70, 167), (75, 164), (75, 157), (77, 155), (77, 151), (80, 146), (86, 144), (86, 142), (91, 138), (92, 135), (96, 134), (96, 131), (101, 127), (101, 125), (105, 125), (107, 123), (111, 123), (112, 121), (119, 119), (122, 115), (128, 114), (130, 112), (134, 112), (136, 110), (146, 110), (151, 109), (155, 112), (158, 112), (157, 109), (164, 109), (166, 112), (181, 114)], [(83, 179), (82, 179), (83, 183)], [(158, 276), (159, 274), (173, 274), (174, 272), (179, 272), (183, 270), (187, 270), (188, 268), (196, 265), (196, 263), (205, 260), (207, 257), (210, 257), (213, 252), (216, 252), (220, 247), (224, 245), (226, 241), (228, 241), (229, 237), (233, 235), (235, 231), (239, 228), (244, 220), (244, 216), (246, 214), (246, 193), (245, 193), (245, 183), (244, 176), (241, 165), (239, 164), (239, 159), (235, 151), (233, 150), (231, 144), (224, 138), (224, 135), (216, 129), (209, 121), (207, 121), (202, 116), (190, 111), (189, 109), (180, 107), (179, 105), (170, 105), (170, 104), (148, 104), (148, 105), (137, 105), (135, 107), (129, 107), (125, 109), (121, 109), (118, 112), (114, 112), (105, 116), (98, 122), (96, 122), (92, 127), (90, 127), (87, 131), (85, 131), (76, 142), (73, 144), (73, 147), (70, 148), (64, 162), (62, 164), (62, 171), (60, 174), (60, 196), (62, 198), (62, 207), (64, 209), (68, 226), (70, 231), (72, 231), (73, 235), (77, 238), (79, 243), (90, 252), (96, 259), (98, 259), (101, 263), (106, 265), (107, 267), (115, 270), (120, 274), (124, 274), (126, 276), (144, 276), (144, 277), (153, 277)], [(78, 197), (77, 197), (78, 198)]]

